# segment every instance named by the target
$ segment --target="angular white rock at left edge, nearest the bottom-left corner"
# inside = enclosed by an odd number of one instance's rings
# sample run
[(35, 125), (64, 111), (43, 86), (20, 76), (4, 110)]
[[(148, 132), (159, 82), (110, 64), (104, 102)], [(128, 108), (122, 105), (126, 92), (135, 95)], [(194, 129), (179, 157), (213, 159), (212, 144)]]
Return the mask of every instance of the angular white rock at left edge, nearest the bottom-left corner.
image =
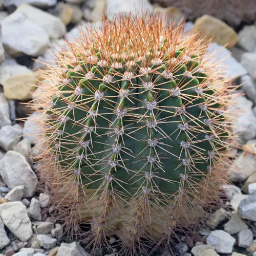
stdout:
[(22, 242), (32, 236), (31, 222), (22, 202), (0, 204), (0, 216), (9, 230)]

